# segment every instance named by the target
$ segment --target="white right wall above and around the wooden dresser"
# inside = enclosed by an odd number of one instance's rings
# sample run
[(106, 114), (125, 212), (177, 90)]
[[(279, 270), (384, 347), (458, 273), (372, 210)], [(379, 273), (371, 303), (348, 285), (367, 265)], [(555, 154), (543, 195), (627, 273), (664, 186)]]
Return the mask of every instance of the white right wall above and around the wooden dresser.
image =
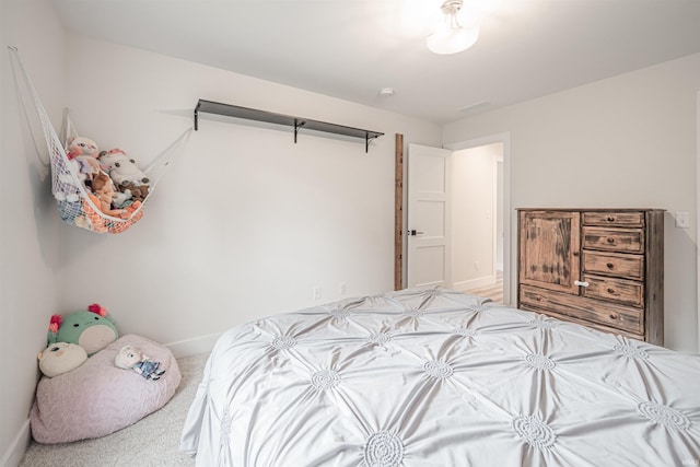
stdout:
[[(514, 209), (662, 208), (665, 342), (697, 351), (696, 92), (700, 55), (548, 95), (444, 127), (444, 143), (509, 131)], [(511, 248), (516, 265), (516, 248)], [(516, 268), (511, 268), (515, 296)]]

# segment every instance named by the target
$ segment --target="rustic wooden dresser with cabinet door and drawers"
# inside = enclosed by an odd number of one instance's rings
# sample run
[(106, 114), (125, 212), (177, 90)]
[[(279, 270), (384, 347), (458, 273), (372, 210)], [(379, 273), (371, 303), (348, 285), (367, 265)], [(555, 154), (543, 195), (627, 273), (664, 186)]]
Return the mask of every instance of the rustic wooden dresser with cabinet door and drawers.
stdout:
[(518, 209), (517, 307), (664, 345), (664, 211)]

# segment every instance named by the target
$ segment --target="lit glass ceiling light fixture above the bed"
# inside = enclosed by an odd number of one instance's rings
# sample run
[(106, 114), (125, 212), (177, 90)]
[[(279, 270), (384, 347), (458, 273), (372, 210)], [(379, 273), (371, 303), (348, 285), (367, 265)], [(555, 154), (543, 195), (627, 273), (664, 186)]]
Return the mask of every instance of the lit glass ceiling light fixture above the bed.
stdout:
[(463, 0), (445, 0), (441, 10), (442, 24), (428, 35), (427, 43), (430, 51), (440, 55), (457, 54), (468, 49), (479, 38), (478, 26), (463, 27), (457, 21), (457, 13), (462, 9)]

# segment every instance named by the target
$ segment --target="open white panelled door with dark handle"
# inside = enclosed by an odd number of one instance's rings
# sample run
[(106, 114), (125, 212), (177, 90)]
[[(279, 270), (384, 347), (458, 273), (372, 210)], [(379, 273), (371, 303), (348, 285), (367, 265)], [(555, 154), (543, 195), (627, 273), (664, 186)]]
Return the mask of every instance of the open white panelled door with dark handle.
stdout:
[(451, 154), (446, 149), (408, 145), (408, 287), (452, 288)]

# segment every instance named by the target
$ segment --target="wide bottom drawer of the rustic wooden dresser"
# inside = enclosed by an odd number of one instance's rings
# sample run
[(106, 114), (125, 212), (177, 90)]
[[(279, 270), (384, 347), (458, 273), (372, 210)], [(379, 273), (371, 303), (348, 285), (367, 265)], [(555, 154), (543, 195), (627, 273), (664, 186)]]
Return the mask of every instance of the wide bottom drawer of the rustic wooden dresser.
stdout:
[(520, 303), (526, 307), (549, 310), (584, 322), (644, 334), (644, 314), (631, 306), (605, 303), (586, 296), (552, 292), (529, 285), (521, 285)]

